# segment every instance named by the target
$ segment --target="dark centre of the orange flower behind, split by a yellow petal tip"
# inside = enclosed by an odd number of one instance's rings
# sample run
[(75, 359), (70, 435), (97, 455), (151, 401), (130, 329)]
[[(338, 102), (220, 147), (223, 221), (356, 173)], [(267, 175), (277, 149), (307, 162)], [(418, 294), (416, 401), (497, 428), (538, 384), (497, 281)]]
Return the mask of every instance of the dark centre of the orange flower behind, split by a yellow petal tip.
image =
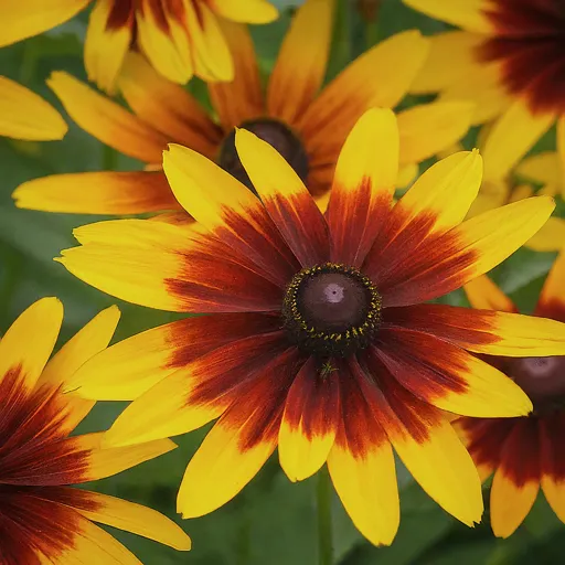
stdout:
[[(308, 156), (301, 141), (290, 128), (281, 121), (270, 118), (244, 121), (239, 127), (252, 131), (273, 146), (286, 159), (288, 164), (292, 167), (298, 177), (306, 181), (308, 177)], [(235, 129), (230, 131), (222, 143), (220, 149), (220, 167), (255, 192), (235, 149)]]

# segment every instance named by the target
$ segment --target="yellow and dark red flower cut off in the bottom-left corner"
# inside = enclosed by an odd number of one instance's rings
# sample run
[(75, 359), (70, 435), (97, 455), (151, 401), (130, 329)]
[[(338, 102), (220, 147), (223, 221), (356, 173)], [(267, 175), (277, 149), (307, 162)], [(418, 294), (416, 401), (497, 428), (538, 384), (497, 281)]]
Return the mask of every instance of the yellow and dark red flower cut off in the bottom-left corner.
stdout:
[(159, 512), (72, 488), (174, 449), (170, 440), (105, 448), (102, 434), (71, 435), (94, 406), (65, 383), (107, 347), (119, 318), (109, 308), (47, 362), (63, 317), (55, 298), (25, 310), (0, 341), (0, 562), (3, 565), (140, 565), (94, 522), (189, 550), (186, 534)]

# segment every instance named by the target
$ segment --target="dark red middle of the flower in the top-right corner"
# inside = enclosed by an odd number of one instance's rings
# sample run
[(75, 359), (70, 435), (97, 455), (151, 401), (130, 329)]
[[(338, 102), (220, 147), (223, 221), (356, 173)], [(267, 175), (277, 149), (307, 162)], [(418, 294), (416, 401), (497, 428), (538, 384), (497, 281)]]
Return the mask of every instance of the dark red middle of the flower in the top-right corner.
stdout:
[(502, 84), (532, 111), (565, 111), (563, 1), (494, 0), (486, 13), (495, 31), (480, 45), (479, 58), (499, 62)]

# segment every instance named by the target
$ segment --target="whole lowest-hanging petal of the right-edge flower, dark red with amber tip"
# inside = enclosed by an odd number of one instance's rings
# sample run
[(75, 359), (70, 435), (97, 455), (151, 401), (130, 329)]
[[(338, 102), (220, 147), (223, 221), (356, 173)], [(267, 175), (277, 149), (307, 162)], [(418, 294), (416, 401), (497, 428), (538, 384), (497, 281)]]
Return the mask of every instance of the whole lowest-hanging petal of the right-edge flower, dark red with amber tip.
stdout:
[(494, 535), (508, 537), (523, 522), (540, 490), (540, 438), (536, 418), (514, 420), (501, 450), (490, 490)]

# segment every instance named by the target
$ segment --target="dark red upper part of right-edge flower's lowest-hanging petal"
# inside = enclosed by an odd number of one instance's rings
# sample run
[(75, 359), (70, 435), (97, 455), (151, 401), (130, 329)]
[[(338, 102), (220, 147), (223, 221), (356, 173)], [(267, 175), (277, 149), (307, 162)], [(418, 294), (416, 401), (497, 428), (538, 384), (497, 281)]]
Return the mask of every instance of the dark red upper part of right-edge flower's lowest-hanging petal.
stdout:
[(500, 469), (518, 488), (540, 482), (540, 435), (535, 417), (513, 418), (514, 425), (503, 446), (499, 446)]

